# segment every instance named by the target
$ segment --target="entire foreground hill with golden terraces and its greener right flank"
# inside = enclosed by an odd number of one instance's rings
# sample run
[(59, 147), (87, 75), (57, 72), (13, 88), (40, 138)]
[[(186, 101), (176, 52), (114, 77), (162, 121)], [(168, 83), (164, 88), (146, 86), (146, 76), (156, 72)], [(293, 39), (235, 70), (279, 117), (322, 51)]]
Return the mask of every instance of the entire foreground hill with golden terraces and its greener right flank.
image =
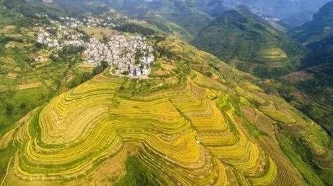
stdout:
[(208, 53), (173, 37), (157, 48), (154, 78), (105, 72), (29, 113), (3, 184), (330, 183), (317, 124)]

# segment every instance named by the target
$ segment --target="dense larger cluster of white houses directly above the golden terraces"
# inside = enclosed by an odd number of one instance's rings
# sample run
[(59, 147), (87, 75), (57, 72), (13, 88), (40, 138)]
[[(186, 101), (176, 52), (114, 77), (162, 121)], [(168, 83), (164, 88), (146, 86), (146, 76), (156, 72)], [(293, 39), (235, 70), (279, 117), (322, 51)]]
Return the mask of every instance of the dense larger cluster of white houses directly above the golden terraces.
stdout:
[(146, 45), (145, 39), (138, 35), (112, 35), (106, 43), (101, 43), (92, 38), (83, 55), (87, 57), (88, 64), (108, 62), (111, 66), (110, 73), (114, 75), (145, 77), (151, 73), (151, 64), (155, 60), (153, 47)]

